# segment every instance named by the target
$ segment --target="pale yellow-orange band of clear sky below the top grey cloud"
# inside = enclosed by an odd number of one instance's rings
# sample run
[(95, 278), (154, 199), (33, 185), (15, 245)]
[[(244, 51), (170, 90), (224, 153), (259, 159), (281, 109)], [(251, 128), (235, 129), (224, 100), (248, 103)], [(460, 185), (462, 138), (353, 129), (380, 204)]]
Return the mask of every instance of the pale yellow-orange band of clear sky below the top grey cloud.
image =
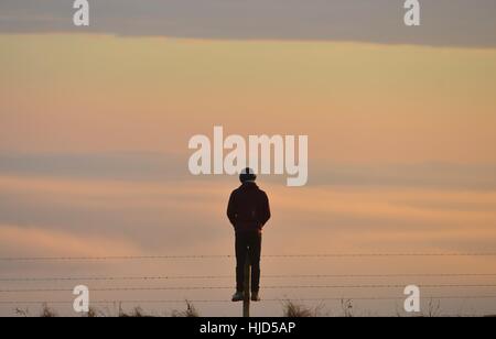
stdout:
[[(495, 162), (496, 52), (3, 35), (2, 151), (184, 152), (214, 123), (314, 158)], [(249, 118), (256, 117), (256, 118)]]

